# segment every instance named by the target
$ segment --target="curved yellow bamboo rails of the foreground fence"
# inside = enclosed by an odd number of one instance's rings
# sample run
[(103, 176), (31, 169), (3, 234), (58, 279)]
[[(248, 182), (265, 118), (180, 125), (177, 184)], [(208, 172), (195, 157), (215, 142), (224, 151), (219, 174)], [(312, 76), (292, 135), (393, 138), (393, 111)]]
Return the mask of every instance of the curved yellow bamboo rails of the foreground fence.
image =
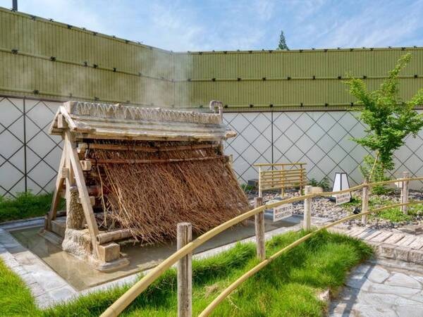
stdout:
[[(233, 225), (241, 223), (243, 220), (246, 220), (247, 218), (250, 218), (252, 216), (255, 216), (255, 215), (258, 215), (259, 213), (264, 212), (264, 209), (271, 209), (271, 208), (274, 208), (274, 207), (277, 207), (277, 206), (281, 206), (283, 204), (290, 204), (290, 203), (293, 203), (293, 202), (296, 202), (296, 201), (302, 201), (302, 200), (305, 200), (305, 199), (312, 199), (312, 198), (315, 198), (315, 197), (327, 197), (327, 196), (333, 196), (333, 195), (336, 195), (336, 194), (343, 194), (345, 192), (354, 192), (356, 190), (364, 189), (364, 188), (369, 189), (369, 188), (374, 187), (374, 186), (388, 185), (388, 184), (392, 184), (392, 183), (395, 183), (395, 182), (402, 182), (405, 185), (405, 186), (403, 186), (402, 194), (401, 194), (401, 197), (402, 197), (401, 199), (402, 199), (403, 202), (401, 202), (400, 204), (393, 204), (391, 206), (384, 206), (384, 207), (381, 207), (381, 208), (378, 208), (378, 209), (373, 209), (373, 210), (370, 210), (370, 211), (363, 210), (361, 213), (358, 213), (357, 215), (351, 215), (351, 216), (347, 216), (345, 218), (336, 220), (333, 223), (329, 223), (328, 225), (325, 225), (324, 227), (322, 227), (318, 230), (314, 230), (313, 232), (310, 232), (309, 234), (305, 235), (304, 237), (301, 237), (299, 240), (293, 242), (292, 244), (289, 244), (287, 247), (284, 247), (283, 249), (277, 251), (272, 256), (269, 256), (269, 258), (261, 261), (259, 264), (257, 264), (257, 266), (255, 266), (250, 271), (248, 271), (247, 273), (242, 275), (240, 278), (238, 278), (238, 280), (235, 280), (235, 282), (233, 282), (231, 285), (229, 285), (226, 288), (226, 290), (223, 290), (223, 292), (221, 292), (221, 294), (219, 294), (219, 296), (216, 297), (216, 299), (214, 299), (214, 301), (212, 303), (210, 303), (209, 306), (207, 306), (206, 309), (204, 309), (204, 311), (202, 311), (202, 313), (200, 313), (201, 317), (209, 316), (209, 314), (212, 313), (212, 311), (216, 308), (216, 306), (219, 305), (219, 303), (221, 303), (223, 301), (223, 299), (228, 297), (228, 295), (231, 294), (231, 292), (233, 292), (233, 290), (235, 290), (239, 285), (241, 285), (245, 280), (247, 280), (247, 278), (250, 278), (252, 275), (254, 275), (258, 271), (260, 271), (262, 268), (264, 268), (269, 263), (271, 263), (271, 261), (274, 261), (274, 259), (276, 259), (278, 256), (281, 256), (281, 254), (285, 253), (286, 251), (289, 251), (290, 249), (293, 249), (298, 244), (305, 242), (307, 239), (309, 239), (309, 237), (312, 237), (317, 232), (331, 228), (334, 225), (338, 225), (339, 223), (343, 223), (345, 221), (348, 221), (348, 220), (351, 220), (351, 219), (354, 219), (354, 218), (358, 218), (360, 216), (361, 217), (368, 216), (370, 213), (376, 213), (376, 212), (379, 212), (379, 211), (395, 208), (395, 207), (398, 207), (398, 206), (403, 207), (403, 206), (409, 206), (409, 205), (412, 205), (412, 204), (421, 204), (423, 201), (408, 201), (407, 199), (405, 199), (405, 195), (404, 195), (405, 189), (407, 190), (407, 192), (406, 192), (406, 196), (407, 196), (407, 194), (408, 194), (408, 182), (413, 181), (413, 180), (423, 180), (423, 177), (419, 177), (419, 178), (399, 178), (399, 179), (396, 179), (396, 180), (386, 180), (386, 181), (383, 181), (383, 182), (364, 183), (362, 185), (357, 185), (357, 186), (351, 187), (349, 189), (343, 189), (343, 190), (338, 191), (338, 192), (320, 192), (320, 193), (305, 194), (305, 195), (302, 195), (302, 196), (299, 196), (299, 197), (293, 197), (293, 198), (289, 198), (289, 199), (284, 199), (282, 201), (276, 201), (272, 204), (257, 206), (255, 209), (252, 209), (250, 211), (247, 211), (246, 213), (241, 214), (240, 216), (232, 218), (231, 220), (226, 221), (226, 223), (222, 223), (221, 225), (218, 225), (216, 228), (213, 228), (212, 230), (205, 232), (203, 235), (201, 235), (200, 237), (197, 237), (197, 239), (193, 240), (192, 242), (185, 244), (184, 247), (181, 247), (180, 249), (178, 249), (178, 251), (176, 251), (171, 256), (169, 256), (167, 259), (162, 261), (158, 266), (156, 266), (151, 271), (149, 271), (149, 273), (147, 273), (141, 280), (139, 280), (132, 287), (130, 287), (130, 289), (127, 292), (125, 292), (121, 297), (119, 297), (116, 300), (116, 302), (114, 302), (114, 304), (111, 304), (111, 306), (109, 306), (109, 308), (106, 309), (106, 311), (104, 311), (104, 313), (102, 313), (102, 316), (103, 317), (118, 316), (123, 311), (123, 309), (125, 309), (131, 302), (133, 302), (133, 300), (138, 295), (140, 295), (144, 290), (146, 290), (147, 287), (149, 285), (151, 285), (152, 282), (154, 282), (154, 280), (159, 278), (159, 276), (162, 273), (164, 273), (164, 271), (166, 271), (168, 268), (171, 268), (171, 266), (173, 266), (173, 264), (175, 264), (177, 261), (182, 259), (184, 256), (191, 254), (193, 250), (195, 250), (200, 245), (204, 244), (204, 242), (207, 242), (208, 240), (212, 239), (212, 237), (219, 235), (219, 233), (223, 232), (224, 230), (226, 230), (228, 228), (231, 228)], [(364, 195), (363, 195), (363, 197), (364, 197)], [(367, 198), (368, 198), (368, 195), (367, 195)], [(365, 203), (366, 201), (363, 201), (363, 202)], [(403, 211), (404, 211), (404, 209), (403, 209)], [(256, 228), (257, 228), (257, 226), (256, 226)]]

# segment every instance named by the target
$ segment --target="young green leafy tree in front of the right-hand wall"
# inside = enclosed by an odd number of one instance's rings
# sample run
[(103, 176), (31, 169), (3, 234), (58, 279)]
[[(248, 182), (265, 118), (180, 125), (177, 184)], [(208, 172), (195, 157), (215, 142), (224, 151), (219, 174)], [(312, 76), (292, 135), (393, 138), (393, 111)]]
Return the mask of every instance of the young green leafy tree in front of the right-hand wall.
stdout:
[(423, 127), (423, 115), (415, 111), (416, 106), (423, 105), (423, 89), (410, 101), (403, 101), (398, 89), (398, 75), (410, 59), (411, 54), (401, 56), (388, 78), (373, 92), (361, 79), (345, 82), (362, 106), (359, 118), (367, 125), (367, 135), (353, 140), (374, 152), (374, 156), (364, 158), (362, 166), (363, 176), (369, 181), (385, 180), (386, 170), (394, 168), (394, 151), (405, 143), (407, 135), (415, 137)]

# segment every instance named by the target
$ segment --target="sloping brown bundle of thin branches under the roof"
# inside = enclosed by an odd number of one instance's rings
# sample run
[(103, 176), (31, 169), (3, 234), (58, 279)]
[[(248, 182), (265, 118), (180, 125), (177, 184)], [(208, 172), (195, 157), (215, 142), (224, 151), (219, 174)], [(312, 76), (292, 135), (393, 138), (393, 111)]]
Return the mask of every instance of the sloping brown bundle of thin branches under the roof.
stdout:
[(106, 227), (128, 229), (142, 243), (176, 237), (180, 222), (205, 232), (248, 209), (219, 144), (97, 141), (88, 155), (99, 172)]

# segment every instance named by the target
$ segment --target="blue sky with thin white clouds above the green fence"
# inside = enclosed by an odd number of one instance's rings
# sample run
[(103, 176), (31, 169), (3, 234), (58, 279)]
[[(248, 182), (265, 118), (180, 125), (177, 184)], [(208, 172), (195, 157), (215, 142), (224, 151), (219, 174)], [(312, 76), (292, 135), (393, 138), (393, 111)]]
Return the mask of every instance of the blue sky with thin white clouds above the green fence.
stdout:
[[(11, 8), (12, 0), (0, 0)], [(18, 0), (19, 11), (173, 51), (423, 46), (423, 0)]]

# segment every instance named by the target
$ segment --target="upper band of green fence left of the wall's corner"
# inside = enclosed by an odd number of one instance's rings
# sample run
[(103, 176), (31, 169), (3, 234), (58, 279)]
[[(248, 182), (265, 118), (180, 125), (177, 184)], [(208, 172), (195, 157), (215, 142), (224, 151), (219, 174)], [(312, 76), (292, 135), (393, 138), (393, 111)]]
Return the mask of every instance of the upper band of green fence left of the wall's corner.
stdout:
[(0, 9), (1, 47), (146, 75), (171, 75), (171, 53)]

